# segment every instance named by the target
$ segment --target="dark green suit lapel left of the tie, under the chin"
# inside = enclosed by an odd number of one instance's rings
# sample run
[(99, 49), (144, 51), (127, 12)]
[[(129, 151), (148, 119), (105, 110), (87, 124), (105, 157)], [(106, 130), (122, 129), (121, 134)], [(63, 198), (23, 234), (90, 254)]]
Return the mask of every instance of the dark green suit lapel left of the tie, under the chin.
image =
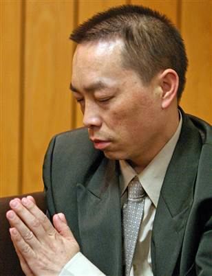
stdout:
[(106, 275), (121, 275), (122, 235), (116, 162), (103, 159), (87, 187), (77, 185), (83, 254)]

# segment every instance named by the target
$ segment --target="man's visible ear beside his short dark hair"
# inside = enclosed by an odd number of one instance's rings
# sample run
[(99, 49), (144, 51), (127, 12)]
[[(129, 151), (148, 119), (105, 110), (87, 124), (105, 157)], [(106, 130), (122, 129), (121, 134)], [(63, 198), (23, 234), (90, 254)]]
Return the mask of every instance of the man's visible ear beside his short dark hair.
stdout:
[(166, 69), (160, 74), (160, 87), (162, 89), (161, 107), (165, 109), (177, 100), (179, 77), (173, 69)]

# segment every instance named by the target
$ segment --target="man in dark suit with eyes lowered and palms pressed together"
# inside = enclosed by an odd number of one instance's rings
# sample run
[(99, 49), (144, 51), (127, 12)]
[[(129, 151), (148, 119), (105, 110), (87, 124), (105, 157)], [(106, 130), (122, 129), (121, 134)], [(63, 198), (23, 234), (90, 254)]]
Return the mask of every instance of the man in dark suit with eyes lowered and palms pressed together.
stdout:
[(187, 71), (180, 34), (158, 12), (125, 5), (71, 39), (85, 128), (56, 135), (47, 150), (55, 228), (32, 197), (10, 202), (23, 271), (212, 275), (212, 130), (178, 107)]

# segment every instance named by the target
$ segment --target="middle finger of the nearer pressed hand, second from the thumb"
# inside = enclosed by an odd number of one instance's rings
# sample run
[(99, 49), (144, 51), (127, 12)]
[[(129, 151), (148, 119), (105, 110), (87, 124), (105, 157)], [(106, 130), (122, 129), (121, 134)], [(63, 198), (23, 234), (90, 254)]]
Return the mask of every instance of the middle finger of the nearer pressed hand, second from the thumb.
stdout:
[[(43, 229), (43, 226), (40, 220), (36, 218), (33, 214), (31, 214), (30, 211), (28, 211), (28, 209), (26, 209), (22, 205), (22, 202), (19, 202), (19, 200), (15, 200), (15, 199), (11, 200), (10, 207), (13, 209), (13, 211), (15, 211), (15, 213), (19, 216), (19, 218), (21, 218), (21, 220), (25, 222), (25, 225), (27, 225), (29, 229), (33, 231), (34, 235), (36, 235), (37, 238), (41, 237), (45, 233), (45, 230)], [(20, 230), (21, 229), (19, 229), (19, 231)]]

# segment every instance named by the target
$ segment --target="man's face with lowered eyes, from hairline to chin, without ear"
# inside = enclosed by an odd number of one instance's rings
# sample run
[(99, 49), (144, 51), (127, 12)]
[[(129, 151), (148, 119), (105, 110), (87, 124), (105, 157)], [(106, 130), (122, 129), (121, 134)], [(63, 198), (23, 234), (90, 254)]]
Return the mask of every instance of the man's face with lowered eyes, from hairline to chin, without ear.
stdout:
[(78, 45), (72, 91), (94, 147), (109, 159), (132, 162), (151, 152), (162, 131), (158, 78), (148, 86), (121, 65), (121, 40)]

